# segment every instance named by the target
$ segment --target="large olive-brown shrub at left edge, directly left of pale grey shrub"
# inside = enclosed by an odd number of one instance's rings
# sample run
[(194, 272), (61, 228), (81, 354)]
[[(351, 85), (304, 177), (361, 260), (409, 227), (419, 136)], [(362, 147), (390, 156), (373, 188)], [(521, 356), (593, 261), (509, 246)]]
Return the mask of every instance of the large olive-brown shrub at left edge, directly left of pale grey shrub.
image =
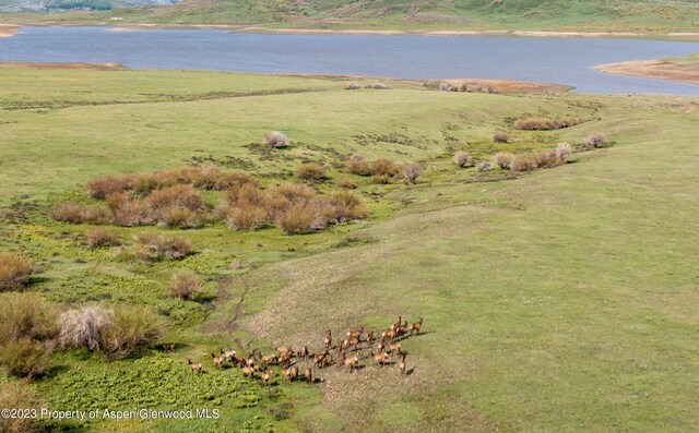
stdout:
[(0, 303), (0, 345), (22, 338), (47, 341), (59, 335), (58, 311), (36, 293), (12, 293)]

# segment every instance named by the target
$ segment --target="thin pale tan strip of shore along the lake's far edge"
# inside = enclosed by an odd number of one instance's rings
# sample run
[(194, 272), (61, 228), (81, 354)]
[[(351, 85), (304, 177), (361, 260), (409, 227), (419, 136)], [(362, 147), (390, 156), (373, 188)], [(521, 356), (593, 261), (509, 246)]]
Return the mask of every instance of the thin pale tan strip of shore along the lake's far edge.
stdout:
[(273, 28), (240, 24), (157, 24), (157, 23), (121, 23), (119, 21), (96, 23), (37, 23), (37, 24), (0, 24), (0, 37), (12, 37), (20, 27), (70, 27), (94, 26), (105, 27), (107, 32), (147, 32), (155, 29), (222, 29), (228, 33), (270, 34), (270, 35), (383, 35), (383, 36), (509, 36), (537, 38), (638, 38), (667, 40), (699, 40), (699, 32), (577, 32), (577, 31), (506, 31), (506, 29), (363, 29), (363, 28)]

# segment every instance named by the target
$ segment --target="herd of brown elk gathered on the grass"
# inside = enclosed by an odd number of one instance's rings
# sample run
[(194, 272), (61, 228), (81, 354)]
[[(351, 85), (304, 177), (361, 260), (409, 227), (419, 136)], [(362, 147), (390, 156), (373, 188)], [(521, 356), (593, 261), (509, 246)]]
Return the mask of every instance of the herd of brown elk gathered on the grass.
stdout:
[[(328, 329), (321, 349), (317, 352), (311, 352), (308, 346), (296, 349), (282, 346), (273, 353), (262, 354), (261, 351), (253, 350), (248, 357), (240, 357), (235, 350), (221, 349), (218, 354), (211, 353), (211, 358), (214, 369), (239, 368), (245, 376), (260, 380), (264, 385), (269, 385), (276, 374), (291, 382), (304, 380), (308, 383), (322, 383), (324, 380), (316, 377), (313, 370), (334, 365), (353, 373), (366, 366), (363, 363), (365, 359), (369, 360), (370, 365), (379, 368), (398, 364), (401, 376), (404, 376), (407, 353), (402, 350), (400, 341), (419, 335), (422, 326), (422, 317), (408, 325), (407, 321), (403, 322), (403, 317), (399, 316), (398, 322), (380, 334), (375, 330), (367, 332), (362, 326), (348, 330), (340, 339), (334, 339), (332, 330)], [(396, 362), (394, 359), (400, 361)], [(187, 360), (187, 363), (193, 372), (203, 373), (202, 363), (192, 362), (191, 359)], [(279, 373), (275, 369), (279, 369)]]

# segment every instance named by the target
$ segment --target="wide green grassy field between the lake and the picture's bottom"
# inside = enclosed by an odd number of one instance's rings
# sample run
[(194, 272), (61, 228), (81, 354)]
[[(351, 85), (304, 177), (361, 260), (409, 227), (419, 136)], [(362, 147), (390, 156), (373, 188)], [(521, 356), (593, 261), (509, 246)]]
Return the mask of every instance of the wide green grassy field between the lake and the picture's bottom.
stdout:
[[(0, 68), (0, 251), (39, 266), (28, 291), (61, 304), (142, 304), (177, 350), (105, 363), (51, 357), (36, 389), (52, 409), (217, 408), (218, 420), (44, 422), (56, 431), (687, 432), (699, 425), (697, 100), (665, 96), (490, 95), (347, 79), (164, 71)], [(365, 84), (364, 81), (359, 81)], [(511, 128), (523, 116), (581, 117), (557, 131)], [(265, 152), (271, 130), (294, 146)], [(508, 144), (493, 143), (498, 130)], [(612, 146), (511, 176), (458, 169), (476, 160), (578, 144)], [(353, 153), (420, 163), (416, 185), (346, 172)], [(322, 161), (321, 192), (352, 178), (370, 217), (307, 236), (174, 230), (194, 255), (125, 261), (91, 250), (90, 227), (50, 220), (105, 173), (190, 163), (292, 180)], [(498, 181), (499, 180), (499, 181)], [(119, 228), (129, 239), (155, 227)], [(232, 266), (232, 264), (236, 264)], [(181, 269), (205, 279), (213, 308), (167, 297)], [(1, 297), (7, 297), (2, 293)], [(316, 371), (323, 384), (264, 387), (216, 371), (220, 347), (320, 349), (323, 332), (425, 318), (402, 341), (408, 372)], [(192, 375), (186, 361), (203, 362)], [(1, 381), (11, 381), (3, 377)]]

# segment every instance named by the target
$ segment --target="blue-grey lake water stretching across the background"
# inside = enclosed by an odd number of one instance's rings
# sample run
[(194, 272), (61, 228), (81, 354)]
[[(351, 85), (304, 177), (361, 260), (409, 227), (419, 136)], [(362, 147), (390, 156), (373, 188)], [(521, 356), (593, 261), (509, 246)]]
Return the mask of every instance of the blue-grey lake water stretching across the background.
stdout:
[(585, 93), (699, 96), (699, 85), (603, 74), (596, 64), (684, 56), (699, 43), (526, 37), (259, 35), (220, 29), (112, 32), (23, 27), (0, 61), (119, 62), (130, 68), (325, 73), (558, 83)]

